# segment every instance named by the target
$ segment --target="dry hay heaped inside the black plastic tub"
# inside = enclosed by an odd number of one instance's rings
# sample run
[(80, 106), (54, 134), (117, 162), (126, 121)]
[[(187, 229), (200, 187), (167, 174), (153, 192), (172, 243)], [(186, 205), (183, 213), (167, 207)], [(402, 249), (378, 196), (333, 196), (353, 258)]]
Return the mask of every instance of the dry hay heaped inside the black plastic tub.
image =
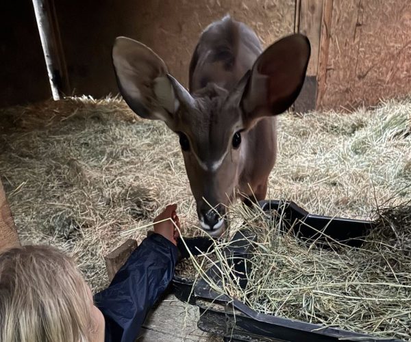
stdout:
[[(245, 227), (258, 234), (251, 242), (248, 284), (239, 287), (223, 257), (229, 243), (215, 241), (223, 281), (218, 285), (203, 276), (212, 289), (261, 313), (411, 341), (411, 201), (377, 209), (377, 226), (362, 248), (340, 243), (319, 248), (280, 234), (280, 226), (290, 222), (276, 214), (267, 218), (259, 207), (239, 206), (232, 215), (244, 224), (232, 227), (230, 235)], [(195, 263), (197, 271), (199, 266)]]

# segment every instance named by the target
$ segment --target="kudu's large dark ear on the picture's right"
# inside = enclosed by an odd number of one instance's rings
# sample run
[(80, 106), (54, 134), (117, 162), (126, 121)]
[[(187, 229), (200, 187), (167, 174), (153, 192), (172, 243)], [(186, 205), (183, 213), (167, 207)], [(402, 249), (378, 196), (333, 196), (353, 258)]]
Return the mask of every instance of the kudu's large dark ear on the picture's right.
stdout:
[(281, 114), (299, 95), (303, 86), (310, 42), (293, 34), (268, 47), (256, 60), (242, 94), (246, 124), (262, 116)]

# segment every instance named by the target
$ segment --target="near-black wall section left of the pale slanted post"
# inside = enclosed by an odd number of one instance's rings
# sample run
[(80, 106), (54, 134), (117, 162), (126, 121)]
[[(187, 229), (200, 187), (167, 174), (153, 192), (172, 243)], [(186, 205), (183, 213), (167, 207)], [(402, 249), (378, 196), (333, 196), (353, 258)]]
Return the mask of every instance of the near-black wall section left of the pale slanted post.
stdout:
[(0, 1), (0, 107), (51, 96), (32, 1)]

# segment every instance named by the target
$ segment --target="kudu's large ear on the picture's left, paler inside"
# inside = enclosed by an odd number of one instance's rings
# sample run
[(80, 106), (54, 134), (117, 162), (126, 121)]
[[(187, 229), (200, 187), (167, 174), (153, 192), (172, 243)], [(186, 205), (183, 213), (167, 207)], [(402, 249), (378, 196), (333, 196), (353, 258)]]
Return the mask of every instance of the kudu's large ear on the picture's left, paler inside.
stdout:
[(147, 119), (163, 120), (173, 129), (175, 113), (190, 94), (171, 75), (166, 64), (145, 44), (118, 37), (112, 49), (117, 83), (125, 102)]

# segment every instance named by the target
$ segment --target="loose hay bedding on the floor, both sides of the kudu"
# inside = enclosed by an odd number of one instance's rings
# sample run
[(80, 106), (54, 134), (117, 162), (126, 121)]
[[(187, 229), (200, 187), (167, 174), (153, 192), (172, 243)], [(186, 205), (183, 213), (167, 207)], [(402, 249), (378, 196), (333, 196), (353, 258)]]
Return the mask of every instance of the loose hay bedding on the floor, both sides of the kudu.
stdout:
[[(267, 197), (351, 218), (369, 217), (375, 201), (410, 198), (410, 113), (407, 100), (281, 116)], [(199, 234), (177, 137), (117, 98), (0, 109), (0, 176), (23, 243), (77, 257), (93, 291), (107, 285), (103, 255), (128, 238), (119, 233), (166, 204), (179, 205), (185, 235)]]

